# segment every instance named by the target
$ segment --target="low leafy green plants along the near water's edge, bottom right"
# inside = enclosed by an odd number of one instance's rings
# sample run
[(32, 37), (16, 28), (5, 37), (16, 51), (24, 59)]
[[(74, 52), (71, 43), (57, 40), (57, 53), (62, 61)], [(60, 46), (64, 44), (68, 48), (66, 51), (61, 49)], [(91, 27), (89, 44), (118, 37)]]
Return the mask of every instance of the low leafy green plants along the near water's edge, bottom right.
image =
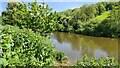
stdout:
[(88, 60), (87, 55), (83, 57), (82, 60), (78, 60), (77, 63), (75, 64), (77, 67), (99, 67), (99, 68), (104, 68), (104, 67), (118, 67), (118, 62), (113, 58), (113, 57), (107, 57), (105, 59), (103, 56), (97, 60), (95, 57), (93, 57), (91, 60)]

